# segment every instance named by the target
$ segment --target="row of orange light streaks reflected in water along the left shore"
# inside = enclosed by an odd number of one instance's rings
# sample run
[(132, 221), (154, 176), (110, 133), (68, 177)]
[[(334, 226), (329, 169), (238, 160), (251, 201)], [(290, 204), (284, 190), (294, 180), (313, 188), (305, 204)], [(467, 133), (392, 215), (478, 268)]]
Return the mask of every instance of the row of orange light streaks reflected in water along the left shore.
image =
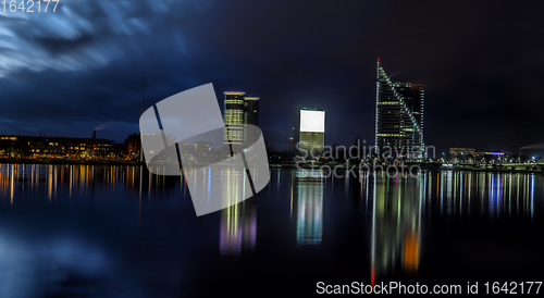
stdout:
[(143, 166), (0, 163), (0, 198), (9, 198), (13, 204), (16, 197), (33, 197), (45, 190), (51, 203), (59, 197), (95, 198), (97, 188), (100, 197), (132, 197), (147, 191), (150, 198), (168, 194), (176, 179), (180, 178), (152, 175)]

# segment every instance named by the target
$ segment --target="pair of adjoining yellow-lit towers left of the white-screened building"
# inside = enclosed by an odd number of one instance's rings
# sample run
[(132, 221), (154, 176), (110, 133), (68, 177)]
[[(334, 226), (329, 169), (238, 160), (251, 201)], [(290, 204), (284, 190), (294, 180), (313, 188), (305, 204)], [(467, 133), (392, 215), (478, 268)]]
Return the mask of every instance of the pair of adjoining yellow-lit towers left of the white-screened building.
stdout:
[(245, 92), (238, 91), (227, 91), (224, 95), (224, 122), (228, 125), (228, 132), (225, 129), (224, 144), (250, 146), (258, 136), (250, 135), (251, 133), (244, 128), (244, 124), (259, 125), (259, 98), (246, 97)]

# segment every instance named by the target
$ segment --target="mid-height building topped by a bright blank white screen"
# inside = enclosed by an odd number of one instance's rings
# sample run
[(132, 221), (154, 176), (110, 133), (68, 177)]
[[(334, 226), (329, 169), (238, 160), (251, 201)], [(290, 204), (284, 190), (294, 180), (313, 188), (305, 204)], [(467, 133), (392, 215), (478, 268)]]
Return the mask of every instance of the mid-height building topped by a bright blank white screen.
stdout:
[(294, 141), (300, 151), (307, 151), (307, 158), (322, 154), (325, 145), (325, 111), (300, 108), (295, 114)]

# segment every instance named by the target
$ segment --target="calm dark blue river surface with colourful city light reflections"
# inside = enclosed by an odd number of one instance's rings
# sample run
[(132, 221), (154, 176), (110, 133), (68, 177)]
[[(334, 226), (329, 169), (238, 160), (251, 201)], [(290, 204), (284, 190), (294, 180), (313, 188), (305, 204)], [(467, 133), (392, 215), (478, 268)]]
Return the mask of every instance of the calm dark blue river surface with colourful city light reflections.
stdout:
[(197, 218), (139, 166), (0, 165), (0, 297), (309, 296), (317, 282), (544, 281), (544, 176), (299, 179)]

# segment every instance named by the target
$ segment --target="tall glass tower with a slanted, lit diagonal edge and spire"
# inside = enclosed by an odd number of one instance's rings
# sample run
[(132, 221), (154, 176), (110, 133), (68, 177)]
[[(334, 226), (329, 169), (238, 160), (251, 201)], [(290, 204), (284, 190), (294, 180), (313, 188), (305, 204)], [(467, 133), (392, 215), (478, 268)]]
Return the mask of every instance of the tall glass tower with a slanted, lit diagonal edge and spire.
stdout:
[(381, 157), (424, 157), (423, 85), (393, 83), (378, 60), (375, 146)]

